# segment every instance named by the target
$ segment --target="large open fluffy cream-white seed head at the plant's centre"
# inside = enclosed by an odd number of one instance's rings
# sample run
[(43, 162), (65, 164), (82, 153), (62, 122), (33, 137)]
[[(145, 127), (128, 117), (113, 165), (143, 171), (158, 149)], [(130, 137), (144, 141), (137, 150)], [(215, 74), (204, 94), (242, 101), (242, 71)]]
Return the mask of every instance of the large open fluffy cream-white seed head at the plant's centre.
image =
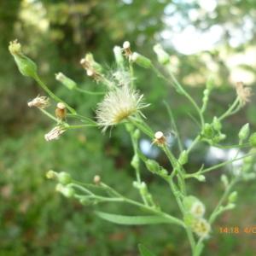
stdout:
[(143, 103), (143, 95), (128, 86), (122, 86), (115, 90), (110, 90), (103, 101), (96, 109), (96, 119), (102, 131), (106, 131), (109, 126), (117, 125), (135, 113), (143, 115), (140, 111), (148, 107)]

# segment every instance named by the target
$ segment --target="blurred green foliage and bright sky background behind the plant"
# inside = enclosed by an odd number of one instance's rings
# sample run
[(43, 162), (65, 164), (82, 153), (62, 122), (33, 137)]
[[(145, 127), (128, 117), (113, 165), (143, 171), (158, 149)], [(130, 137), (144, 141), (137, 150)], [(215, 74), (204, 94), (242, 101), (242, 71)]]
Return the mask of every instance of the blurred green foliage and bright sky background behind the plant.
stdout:
[[(12, 0), (0, 2), (0, 255), (137, 255), (137, 244), (144, 243), (157, 255), (188, 255), (189, 247), (176, 227), (122, 227), (93, 215), (91, 207), (81, 207), (55, 193), (45, 172), (70, 172), (84, 181), (99, 174), (106, 183), (126, 195), (133, 195), (134, 173), (130, 166), (131, 144), (123, 128), (112, 136), (86, 129), (68, 132), (61, 140), (46, 143), (44, 133), (50, 122), (26, 102), (42, 91), (32, 79), (21, 77), (8, 52), (9, 41), (19, 38), (27, 55), (38, 63), (44, 81), (56, 94), (65, 97), (79, 112), (93, 116), (101, 97), (70, 93), (55, 81), (54, 74), (66, 73), (84, 89), (96, 86), (79, 65), (85, 52), (109, 70), (112, 49), (129, 40), (132, 49), (154, 59), (152, 46), (159, 42), (172, 54), (179, 80), (188, 85), (200, 101), (209, 75), (216, 82), (209, 108), (209, 119), (221, 113), (235, 96), (237, 79), (255, 85), (256, 48), (253, 42), (256, 9), (253, 0)], [(171, 86), (154, 74), (138, 68), (137, 84), (151, 108), (145, 112), (155, 130), (170, 132), (163, 100), (172, 106), (183, 140), (194, 135), (196, 125), (189, 103), (177, 96)], [(250, 122), (255, 131), (255, 96), (241, 113), (225, 125), (230, 143), (236, 141), (241, 124)], [(193, 156), (191, 170), (205, 160), (207, 148)], [(163, 166), (162, 155), (157, 156)], [(212, 155), (211, 160), (216, 160)], [(227, 172), (227, 170), (224, 170)], [(220, 172), (213, 172), (208, 183), (191, 183), (191, 191), (212, 208), (223, 189)], [(167, 210), (176, 205), (165, 186), (144, 172), (158, 201)], [(253, 183), (238, 188), (236, 210), (219, 218), (219, 226), (240, 228), (256, 225)], [(101, 206), (109, 212), (129, 209)], [(106, 210), (106, 211), (107, 211)], [(220, 234), (212, 230), (206, 255), (254, 255), (255, 234)]]

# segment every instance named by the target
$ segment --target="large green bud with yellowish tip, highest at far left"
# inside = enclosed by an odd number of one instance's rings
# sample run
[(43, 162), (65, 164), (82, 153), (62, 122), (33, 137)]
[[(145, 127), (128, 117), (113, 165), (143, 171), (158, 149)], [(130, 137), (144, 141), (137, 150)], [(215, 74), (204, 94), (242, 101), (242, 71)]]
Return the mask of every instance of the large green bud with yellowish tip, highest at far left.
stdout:
[(9, 52), (14, 56), (15, 62), (22, 75), (33, 79), (38, 76), (38, 67), (36, 63), (22, 53), (21, 45), (17, 40), (9, 43)]

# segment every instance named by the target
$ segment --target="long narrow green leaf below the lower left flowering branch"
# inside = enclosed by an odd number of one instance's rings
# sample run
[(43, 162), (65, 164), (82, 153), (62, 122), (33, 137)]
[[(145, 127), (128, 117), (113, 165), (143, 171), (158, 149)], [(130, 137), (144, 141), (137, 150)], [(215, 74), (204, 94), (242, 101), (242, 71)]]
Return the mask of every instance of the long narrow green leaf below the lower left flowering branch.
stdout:
[(125, 216), (107, 212), (96, 212), (100, 218), (123, 225), (145, 225), (145, 224), (163, 224), (170, 223), (169, 219), (159, 216)]

